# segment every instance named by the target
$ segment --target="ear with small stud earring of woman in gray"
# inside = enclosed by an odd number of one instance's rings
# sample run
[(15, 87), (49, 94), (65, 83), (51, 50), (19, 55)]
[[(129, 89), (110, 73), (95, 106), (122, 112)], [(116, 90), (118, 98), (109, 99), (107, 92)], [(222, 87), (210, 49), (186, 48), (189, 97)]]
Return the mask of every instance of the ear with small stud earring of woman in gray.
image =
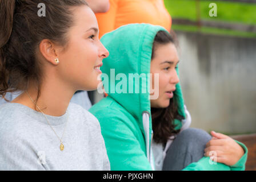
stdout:
[(39, 44), (39, 51), (49, 63), (57, 65), (59, 63), (57, 48), (49, 39), (43, 39)]

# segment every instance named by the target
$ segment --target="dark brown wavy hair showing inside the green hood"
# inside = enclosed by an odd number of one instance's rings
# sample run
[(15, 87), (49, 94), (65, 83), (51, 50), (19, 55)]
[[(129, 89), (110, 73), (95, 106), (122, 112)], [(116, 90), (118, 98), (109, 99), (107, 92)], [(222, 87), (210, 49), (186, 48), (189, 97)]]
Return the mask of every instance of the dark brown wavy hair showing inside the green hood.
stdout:
[[(155, 56), (155, 49), (158, 45), (165, 45), (169, 43), (175, 43), (173, 36), (166, 31), (159, 31), (155, 36), (152, 50), (152, 57)], [(179, 130), (175, 130), (174, 119), (182, 119), (178, 115), (178, 108), (175, 100), (171, 98), (170, 105), (166, 108), (153, 108), (151, 107), (152, 126), (154, 131), (154, 141), (157, 143), (165, 144), (167, 140), (179, 133)]]

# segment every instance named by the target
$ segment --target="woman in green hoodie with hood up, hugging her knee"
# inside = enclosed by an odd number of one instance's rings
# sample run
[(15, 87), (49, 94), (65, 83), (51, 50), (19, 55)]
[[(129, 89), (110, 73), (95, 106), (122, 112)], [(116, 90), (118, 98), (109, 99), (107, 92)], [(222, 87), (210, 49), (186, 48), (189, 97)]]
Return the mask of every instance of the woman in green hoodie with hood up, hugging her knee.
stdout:
[(150, 24), (129, 24), (101, 41), (110, 52), (101, 68), (109, 96), (90, 111), (101, 124), (111, 170), (245, 169), (247, 149), (242, 143), (187, 129), (190, 115), (183, 104), (179, 59), (169, 32)]

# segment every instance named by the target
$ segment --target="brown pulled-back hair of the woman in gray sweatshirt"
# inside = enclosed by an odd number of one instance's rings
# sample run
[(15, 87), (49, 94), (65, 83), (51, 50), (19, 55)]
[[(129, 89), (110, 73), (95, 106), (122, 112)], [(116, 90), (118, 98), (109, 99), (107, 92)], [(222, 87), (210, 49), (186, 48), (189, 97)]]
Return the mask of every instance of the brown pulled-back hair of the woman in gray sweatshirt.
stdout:
[[(38, 16), (39, 3), (46, 16)], [(0, 97), (26, 90), (37, 82), (40, 96), (43, 73), (37, 59), (43, 39), (66, 46), (68, 28), (73, 26), (70, 7), (86, 5), (84, 0), (0, 0)], [(37, 101), (36, 100), (36, 101)]]

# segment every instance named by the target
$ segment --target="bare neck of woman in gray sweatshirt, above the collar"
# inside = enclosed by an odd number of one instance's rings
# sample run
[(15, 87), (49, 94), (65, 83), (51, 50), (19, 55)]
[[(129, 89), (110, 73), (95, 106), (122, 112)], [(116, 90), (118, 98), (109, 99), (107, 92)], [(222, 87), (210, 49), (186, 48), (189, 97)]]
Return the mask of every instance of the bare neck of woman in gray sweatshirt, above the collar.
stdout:
[[(32, 100), (37, 100), (38, 89), (34, 84), (31, 84), (27, 93), (29, 93)], [(65, 84), (58, 83), (54, 80), (47, 80), (47, 84), (42, 84), (41, 86), (41, 95), (39, 96), (37, 102), (37, 106), (43, 111), (43, 113), (47, 115), (53, 116), (61, 116), (66, 113), (67, 107), (69, 106), (69, 102), (73, 97), (75, 90), (70, 89), (70, 86)], [(30, 100), (29, 96), (27, 96), (26, 91), (23, 92), (20, 96), (18, 96), (13, 103), (18, 103), (22, 105), (26, 105), (33, 110), (38, 110), (37, 107)]]

